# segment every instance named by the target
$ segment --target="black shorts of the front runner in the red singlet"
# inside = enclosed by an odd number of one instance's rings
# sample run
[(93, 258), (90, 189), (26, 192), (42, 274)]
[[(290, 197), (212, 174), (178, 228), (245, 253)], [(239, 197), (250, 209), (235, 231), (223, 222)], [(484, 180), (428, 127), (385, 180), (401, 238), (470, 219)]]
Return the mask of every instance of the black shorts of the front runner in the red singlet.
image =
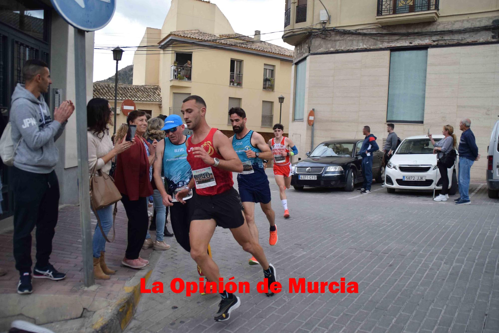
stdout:
[(192, 220), (211, 220), (222, 228), (239, 228), (245, 223), (243, 204), (232, 187), (216, 195), (197, 195)]

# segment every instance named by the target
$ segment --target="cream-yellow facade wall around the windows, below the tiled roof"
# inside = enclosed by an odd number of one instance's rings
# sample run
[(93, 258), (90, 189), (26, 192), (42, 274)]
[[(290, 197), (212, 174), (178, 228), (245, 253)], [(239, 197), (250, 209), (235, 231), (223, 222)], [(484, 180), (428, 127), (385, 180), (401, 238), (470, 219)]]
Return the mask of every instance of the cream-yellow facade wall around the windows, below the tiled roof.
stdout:
[[(179, 45), (179, 44), (177, 44)], [(167, 49), (167, 53), (170, 53)], [(241, 107), (248, 116), (248, 127), (257, 132), (272, 132), (271, 127), (261, 127), (262, 101), (273, 102), (273, 124), (279, 122), (278, 96), (284, 96), (282, 104), (282, 123), (285, 132), (288, 128), (288, 110), (290, 103), (289, 82), (291, 80), (291, 62), (246, 54), (227, 49), (213, 49), (206, 52), (194, 52), (192, 60), (192, 81), (170, 79), (170, 66), (174, 54), (162, 55), (160, 85), (165, 106), (171, 107), (173, 93), (200, 95), (207, 103), (207, 121), (220, 130), (231, 130), (227, 125), (229, 97), (241, 98)], [(229, 85), (231, 59), (243, 61), (243, 87)], [(263, 90), (263, 65), (275, 68), (274, 91)], [(168, 89), (169, 88), (169, 89)]]

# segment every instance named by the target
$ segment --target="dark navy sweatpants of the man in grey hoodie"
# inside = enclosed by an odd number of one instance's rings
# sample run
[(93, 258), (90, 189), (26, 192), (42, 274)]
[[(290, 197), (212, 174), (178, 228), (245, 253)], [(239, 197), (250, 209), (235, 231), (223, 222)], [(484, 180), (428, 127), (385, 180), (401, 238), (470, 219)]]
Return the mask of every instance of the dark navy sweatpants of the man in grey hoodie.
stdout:
[(15, 269), (31, 273), (31, 231), (36, 226), (36, 267), (48, 265), (59, 213), (59, 182), (55, 171), (34, 173), (12, 167), (14, 199), (13, 251)]

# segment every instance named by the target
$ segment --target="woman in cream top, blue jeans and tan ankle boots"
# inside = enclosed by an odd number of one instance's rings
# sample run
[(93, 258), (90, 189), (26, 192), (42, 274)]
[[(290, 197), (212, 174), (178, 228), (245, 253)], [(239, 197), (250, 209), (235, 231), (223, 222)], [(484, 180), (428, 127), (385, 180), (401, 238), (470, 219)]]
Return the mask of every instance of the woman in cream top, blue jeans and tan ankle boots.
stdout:
[[(109, 136), (109, 125), (113, 125), (113, 112), (109, 102), (104, 98), (93, 98), (87, 104), (87, 145), (88, 145), (88, 167), (89, 172), (97, 165), (96, 169), (103, 173), (109, 173), (111, 159), (126, 151), (132, 146), (131, 142), (122, 140), (113, 147)], [(113, 225), (113, 205), (96, 211), (102, 230), (109, 233)], [(107, 280), (110, 275), (116, 273), (106, 265), (105, 253), (106, 240), (98, 225), (92, 238), (94, 277), (97, 280)]]

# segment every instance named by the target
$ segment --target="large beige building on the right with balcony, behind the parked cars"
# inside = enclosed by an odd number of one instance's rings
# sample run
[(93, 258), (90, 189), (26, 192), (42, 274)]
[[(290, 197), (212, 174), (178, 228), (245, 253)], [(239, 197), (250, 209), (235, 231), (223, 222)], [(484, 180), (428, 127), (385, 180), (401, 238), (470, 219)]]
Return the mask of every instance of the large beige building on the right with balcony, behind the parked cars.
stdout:
[(491, 129), (499, 119), (499, 1), (287, 0), (285, 42), (295, 46), (289, 133), (298, 157), (314, 144), (361, 138), (380, 147), (386, 124), (404, 139), (472, 120), (485, 180)]

